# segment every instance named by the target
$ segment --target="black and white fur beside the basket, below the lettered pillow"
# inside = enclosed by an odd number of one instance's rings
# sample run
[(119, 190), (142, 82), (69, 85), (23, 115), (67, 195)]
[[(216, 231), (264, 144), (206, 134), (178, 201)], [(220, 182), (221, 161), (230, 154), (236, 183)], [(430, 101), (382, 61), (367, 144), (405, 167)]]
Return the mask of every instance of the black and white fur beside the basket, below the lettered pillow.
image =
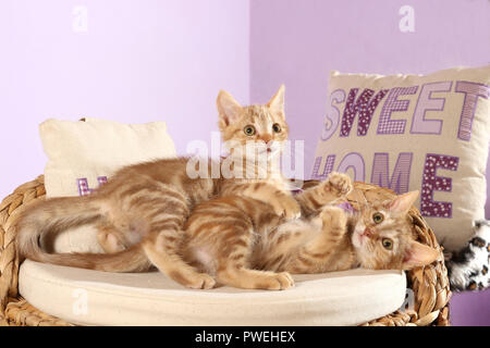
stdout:
[(490, 221), (475, 222), (475, 236), (460, 250), (445, 254), (454, 291), (482, 290), (490, 286)]

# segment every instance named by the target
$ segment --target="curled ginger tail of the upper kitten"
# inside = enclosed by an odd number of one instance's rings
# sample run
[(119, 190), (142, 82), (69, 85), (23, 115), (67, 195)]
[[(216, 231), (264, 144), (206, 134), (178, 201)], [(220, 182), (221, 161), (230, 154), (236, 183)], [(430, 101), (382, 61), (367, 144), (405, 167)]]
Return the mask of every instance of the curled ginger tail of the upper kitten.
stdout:
[(115, 253), (49, 253), (40, 240), (71, 227), (100, 219), (100, 204), (88, 197), (52, 198), (28, 207), (16, 225), (16, 245), (21, 261), (24, 258), (59, 265), (106, 272), (138, 272), (150, 263), (139, 246)]

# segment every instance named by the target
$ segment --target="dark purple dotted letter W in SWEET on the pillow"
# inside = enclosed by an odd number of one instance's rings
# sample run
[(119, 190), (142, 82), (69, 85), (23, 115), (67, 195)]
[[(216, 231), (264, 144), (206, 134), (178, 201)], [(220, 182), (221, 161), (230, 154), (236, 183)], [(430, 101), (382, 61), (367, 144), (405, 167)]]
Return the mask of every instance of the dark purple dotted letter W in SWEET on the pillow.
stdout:
[(345, 103), (344, 114), (342, 115), (341, 137), (348, 137), (352, 125), (357, 114), (359, 114), (359, 122), (357, 124), (357, 135), (365, 136), (369, 129), (372, 114), (376, 107), (378, 107), (384, 95), (389, 89), (381, 89), (372, 99), (375, 95), (372, 89), (366, 88), (360, 94), (359, 98), (354, 102), (359, 88), (352, 88), (348, 92), (347, 102)]

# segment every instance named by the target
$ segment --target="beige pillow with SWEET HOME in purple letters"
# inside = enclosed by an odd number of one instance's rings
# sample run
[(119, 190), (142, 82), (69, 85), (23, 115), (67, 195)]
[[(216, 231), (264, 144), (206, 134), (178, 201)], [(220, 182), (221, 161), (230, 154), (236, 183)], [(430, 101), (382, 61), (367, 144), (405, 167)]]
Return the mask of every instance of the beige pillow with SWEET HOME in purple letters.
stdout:
[(331, 171), (399, 194), (454, 250), (485, 217), (490, 140), (490, 65), (424, 75), (332, 72), (314, 178)]

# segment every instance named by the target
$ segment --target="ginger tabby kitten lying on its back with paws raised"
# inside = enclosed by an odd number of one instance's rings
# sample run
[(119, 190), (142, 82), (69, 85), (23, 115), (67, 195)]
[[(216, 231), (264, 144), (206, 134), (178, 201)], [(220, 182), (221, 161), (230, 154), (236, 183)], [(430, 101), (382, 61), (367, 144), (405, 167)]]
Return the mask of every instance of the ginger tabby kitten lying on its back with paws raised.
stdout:
[(293, 286), (290, 273), (409, 270), (436, 260), (439, 252), (412, 234), (407, 212), (418, 191), (354, 214), (331, 206), (351, 189), (348, 176), (332, 173), (296, 197), (307, 217), (289, 222), (250, 198), (203, 202), (186, 223), (184, 259), (220, 284), (270, 290)]

